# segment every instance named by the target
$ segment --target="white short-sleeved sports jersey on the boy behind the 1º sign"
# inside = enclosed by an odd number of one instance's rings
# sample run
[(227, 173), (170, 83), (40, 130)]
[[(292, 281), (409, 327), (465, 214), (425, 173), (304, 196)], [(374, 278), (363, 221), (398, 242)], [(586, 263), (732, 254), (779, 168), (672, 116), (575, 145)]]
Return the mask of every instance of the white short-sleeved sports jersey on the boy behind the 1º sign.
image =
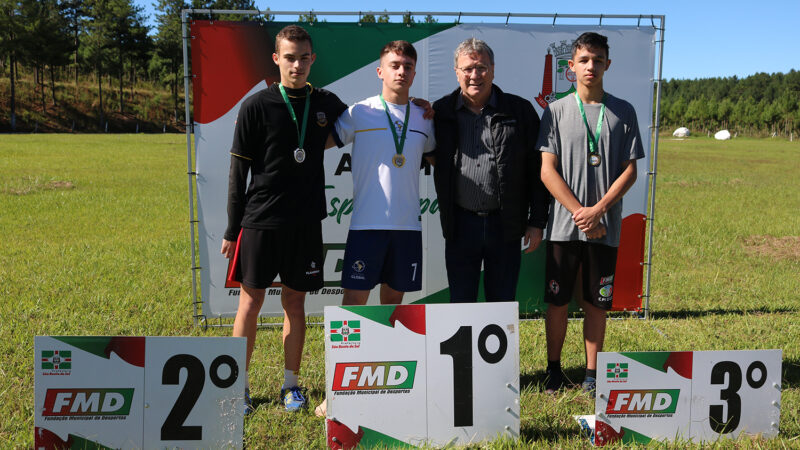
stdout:
[[(406, 105), (386, 102), (402, 135)], [(351, 230), (421, 230), (419, 206), (420, 163), (436, 146), (433, 121), (411, 104), (402, 167), (392, 164), (397, 153), (389, 120), (379, 96), (362, 100), (339, 116), (336, 133), (343, 144), (353, 144), (353, 215)]]

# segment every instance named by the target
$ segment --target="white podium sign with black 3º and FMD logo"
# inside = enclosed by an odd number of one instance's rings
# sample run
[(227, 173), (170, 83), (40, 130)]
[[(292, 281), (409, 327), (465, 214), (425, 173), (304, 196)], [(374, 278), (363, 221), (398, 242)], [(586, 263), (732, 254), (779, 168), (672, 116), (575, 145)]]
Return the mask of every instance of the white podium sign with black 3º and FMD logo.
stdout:
[(778, 434), (781, 351), (600, 353), (595, 444)]

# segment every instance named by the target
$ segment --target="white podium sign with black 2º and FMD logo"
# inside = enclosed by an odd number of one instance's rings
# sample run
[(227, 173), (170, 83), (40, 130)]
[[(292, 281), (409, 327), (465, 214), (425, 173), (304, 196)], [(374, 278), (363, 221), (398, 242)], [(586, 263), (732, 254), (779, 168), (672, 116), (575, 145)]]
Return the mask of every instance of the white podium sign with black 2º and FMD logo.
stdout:
[(244, 338), (37, 336), (36, 448), (242, 446)]

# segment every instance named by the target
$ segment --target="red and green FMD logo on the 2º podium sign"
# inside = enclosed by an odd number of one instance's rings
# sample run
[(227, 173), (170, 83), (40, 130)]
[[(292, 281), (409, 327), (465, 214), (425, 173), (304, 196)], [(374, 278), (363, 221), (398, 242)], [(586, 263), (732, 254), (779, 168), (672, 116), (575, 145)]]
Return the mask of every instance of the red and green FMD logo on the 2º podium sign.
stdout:
[(48, 389), (43, 416), (127, 416), (133, 403), (133, 388)]

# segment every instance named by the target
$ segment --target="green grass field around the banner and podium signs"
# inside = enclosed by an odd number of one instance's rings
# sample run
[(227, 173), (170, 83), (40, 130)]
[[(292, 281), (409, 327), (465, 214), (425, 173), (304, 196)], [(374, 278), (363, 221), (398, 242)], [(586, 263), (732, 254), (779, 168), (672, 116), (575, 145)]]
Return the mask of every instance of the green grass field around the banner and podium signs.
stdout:
[[(35, 335), (225, 336), (190, 304), (183, 135), (3, 135), (0, 142), (0, 442), (33, 445)], [(782, 349), (780, 436), (732, 448), (800, 448), (800, 142), (663, 138), (652, 319), (615, 320), (608, 351)], [(580, 322), (563, 364), (579, 381)], [(280, 329), (259, 332), (248, 448), (321, 448), (323, 423), (281, 411)], [(522, 448), (584, 447), (578, 390), (542, 388), (544, 324), (521, 325)], [(323, 332), (302, 381), (324, 397)], [(669, 447), (683, 447), (685, 443)], [(510, 442), (489, 448), (510, 448)]]

